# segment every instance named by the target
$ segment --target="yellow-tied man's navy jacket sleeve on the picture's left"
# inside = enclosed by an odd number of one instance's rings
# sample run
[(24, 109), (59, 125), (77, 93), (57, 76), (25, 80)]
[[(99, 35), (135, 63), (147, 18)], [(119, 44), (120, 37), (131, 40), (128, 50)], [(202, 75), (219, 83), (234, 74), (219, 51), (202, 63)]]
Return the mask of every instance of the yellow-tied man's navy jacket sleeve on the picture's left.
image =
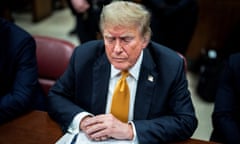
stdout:
[[(75, 96), (75, 69), (74, 61), (76, 50), (74, 51), (69, 66), (56, 84), (50, 89), (48, 94), (48, 112), (50, 116), (59, 123), (63, 132), (66, 132), (74, 116), (84, 111), (74, 103)], [(64, 117), (62, 117), (64, 115)]]

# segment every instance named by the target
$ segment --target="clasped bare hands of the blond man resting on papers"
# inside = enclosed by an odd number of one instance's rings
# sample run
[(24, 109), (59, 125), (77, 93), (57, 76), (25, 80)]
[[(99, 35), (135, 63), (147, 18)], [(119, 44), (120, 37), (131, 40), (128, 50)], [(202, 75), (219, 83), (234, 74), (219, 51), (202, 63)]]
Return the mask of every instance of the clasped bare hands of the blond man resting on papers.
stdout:
[(132, 140), (133, 130), (129, 123), (124, 123), (112, 114), (101, 114), (94, 117), (87, 116), (80, 123), (80, 129), (95, 141), (109, 138)]

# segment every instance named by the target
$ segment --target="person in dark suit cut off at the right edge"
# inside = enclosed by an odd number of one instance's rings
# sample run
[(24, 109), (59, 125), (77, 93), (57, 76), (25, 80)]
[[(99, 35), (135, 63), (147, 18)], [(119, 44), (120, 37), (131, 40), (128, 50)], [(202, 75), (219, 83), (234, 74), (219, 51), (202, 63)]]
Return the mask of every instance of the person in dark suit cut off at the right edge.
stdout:
[(240, 143), (240, 53), (232, 54), (222, 72), (212, 115), (212, 141)]

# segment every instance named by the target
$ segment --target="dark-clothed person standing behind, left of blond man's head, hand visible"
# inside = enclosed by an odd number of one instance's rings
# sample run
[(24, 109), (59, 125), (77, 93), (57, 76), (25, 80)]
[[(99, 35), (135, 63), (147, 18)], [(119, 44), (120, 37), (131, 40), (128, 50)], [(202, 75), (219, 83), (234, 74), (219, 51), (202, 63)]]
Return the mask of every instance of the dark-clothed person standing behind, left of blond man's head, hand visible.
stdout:
[(99, 16), (103, 5), (110, 2), (111, 0), (67, 0), (76, 18), (76, 26), (72, 32), (76, 32), (81, 43), (98, 39)]

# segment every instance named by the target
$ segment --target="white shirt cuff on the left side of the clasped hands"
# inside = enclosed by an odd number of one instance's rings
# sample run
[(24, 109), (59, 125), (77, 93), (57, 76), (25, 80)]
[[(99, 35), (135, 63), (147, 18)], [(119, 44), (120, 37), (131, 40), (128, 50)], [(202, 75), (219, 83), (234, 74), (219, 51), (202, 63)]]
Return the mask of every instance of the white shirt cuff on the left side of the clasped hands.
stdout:
[(88, 113), (88, 112), (81, 112), (78, 113), (74, 118), (73, 121), (71, 122), (70, 126), (68, 127), (68, 132), (70, 134), (77, 134), (80, 131), (80, 122), (82, 121), (82, 119), (86, 116), (93, 116), (93, 114)]

